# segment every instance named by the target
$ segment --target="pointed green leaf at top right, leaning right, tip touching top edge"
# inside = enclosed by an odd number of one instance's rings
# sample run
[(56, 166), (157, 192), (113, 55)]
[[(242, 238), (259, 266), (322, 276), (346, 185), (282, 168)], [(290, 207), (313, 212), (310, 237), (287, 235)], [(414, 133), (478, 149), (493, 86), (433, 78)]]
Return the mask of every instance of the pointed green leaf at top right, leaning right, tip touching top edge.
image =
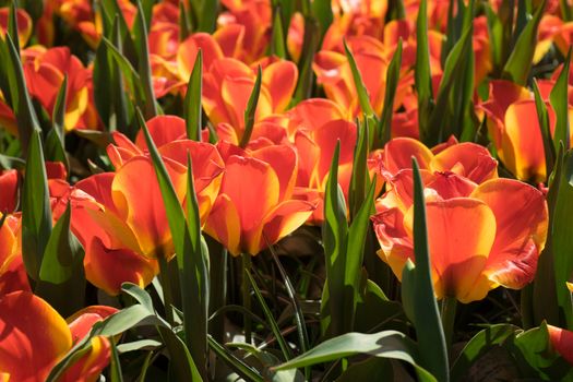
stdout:
[(537, 28), (541, 16), (544, 14), (545, 0), (537, 8), (534, 17), (527, 22), (523, 28), (513, 51), (503, 67), (502, 77), (510, 80), (518, 85), (525, 86), (527, 84), (527, 76), (532, 69), (532, 61), (537, 45)]

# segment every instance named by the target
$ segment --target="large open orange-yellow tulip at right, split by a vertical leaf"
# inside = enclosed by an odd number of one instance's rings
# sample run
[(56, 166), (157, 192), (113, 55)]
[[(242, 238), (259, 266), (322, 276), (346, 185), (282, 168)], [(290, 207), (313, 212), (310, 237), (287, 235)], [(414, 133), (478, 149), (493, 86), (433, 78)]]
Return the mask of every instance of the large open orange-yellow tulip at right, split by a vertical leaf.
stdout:
[[(547, 237), (544, 194), (517, 180), (477, 186), (454, 172), (421, 170), (429, 252), (439, 299), (467, 303), (498, 286), (520, 289), (533, 280)], [(396, 277), (414, 261), (413, 171), (399, 171), (372, 217), (379, 255)]]

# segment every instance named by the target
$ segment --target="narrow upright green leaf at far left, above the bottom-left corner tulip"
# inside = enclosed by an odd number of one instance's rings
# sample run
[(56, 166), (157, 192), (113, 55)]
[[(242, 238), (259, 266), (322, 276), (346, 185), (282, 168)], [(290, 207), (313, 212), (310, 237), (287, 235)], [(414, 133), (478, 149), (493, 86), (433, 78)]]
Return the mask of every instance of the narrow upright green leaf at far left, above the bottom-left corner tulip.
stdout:
[(35, 280), (39, 279), (51, 234), (48, 180), (39, 134), (38, 130), (32, 133), (22, 189), (22, 258), (26, 272)]

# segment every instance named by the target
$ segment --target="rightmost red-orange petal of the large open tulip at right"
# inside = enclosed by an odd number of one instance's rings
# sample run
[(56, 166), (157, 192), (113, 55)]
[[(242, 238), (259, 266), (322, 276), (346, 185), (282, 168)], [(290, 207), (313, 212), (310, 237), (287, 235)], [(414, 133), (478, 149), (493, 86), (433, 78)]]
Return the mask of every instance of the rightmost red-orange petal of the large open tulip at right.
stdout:
[(494, 179), (480, 184), (470, 198), (489, 205), (498, 226), (486, 275), (509, 288), (524, 287), (535, 276), (547, 238), (544, 194), (516, 180)]

